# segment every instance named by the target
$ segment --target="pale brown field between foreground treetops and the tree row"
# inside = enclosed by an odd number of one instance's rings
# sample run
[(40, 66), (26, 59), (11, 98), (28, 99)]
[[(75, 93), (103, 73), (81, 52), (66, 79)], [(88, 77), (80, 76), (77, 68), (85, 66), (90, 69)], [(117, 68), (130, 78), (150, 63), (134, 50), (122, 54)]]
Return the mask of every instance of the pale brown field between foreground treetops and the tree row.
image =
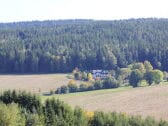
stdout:
[(73, 107), (80, 106), (89, 111), (117, 111), (168, 120), (168, 84), (54, 95), (54, 97)]

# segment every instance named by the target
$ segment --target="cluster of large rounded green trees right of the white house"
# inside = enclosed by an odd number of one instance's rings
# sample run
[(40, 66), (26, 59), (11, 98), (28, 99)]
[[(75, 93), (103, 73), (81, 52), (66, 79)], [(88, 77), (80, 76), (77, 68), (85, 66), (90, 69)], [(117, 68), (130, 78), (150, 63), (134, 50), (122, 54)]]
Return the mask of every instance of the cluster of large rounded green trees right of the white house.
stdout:
[(128, 68), (131, 70), (129, 83), (133, 87), (141, 86), (141, 82), (145, 82), (148, 85), (153, 83), (159, 84), (164, 78), (163, 72), (158, 69), (153, 69), (149, 61), (134, 63), (129, 65)]

